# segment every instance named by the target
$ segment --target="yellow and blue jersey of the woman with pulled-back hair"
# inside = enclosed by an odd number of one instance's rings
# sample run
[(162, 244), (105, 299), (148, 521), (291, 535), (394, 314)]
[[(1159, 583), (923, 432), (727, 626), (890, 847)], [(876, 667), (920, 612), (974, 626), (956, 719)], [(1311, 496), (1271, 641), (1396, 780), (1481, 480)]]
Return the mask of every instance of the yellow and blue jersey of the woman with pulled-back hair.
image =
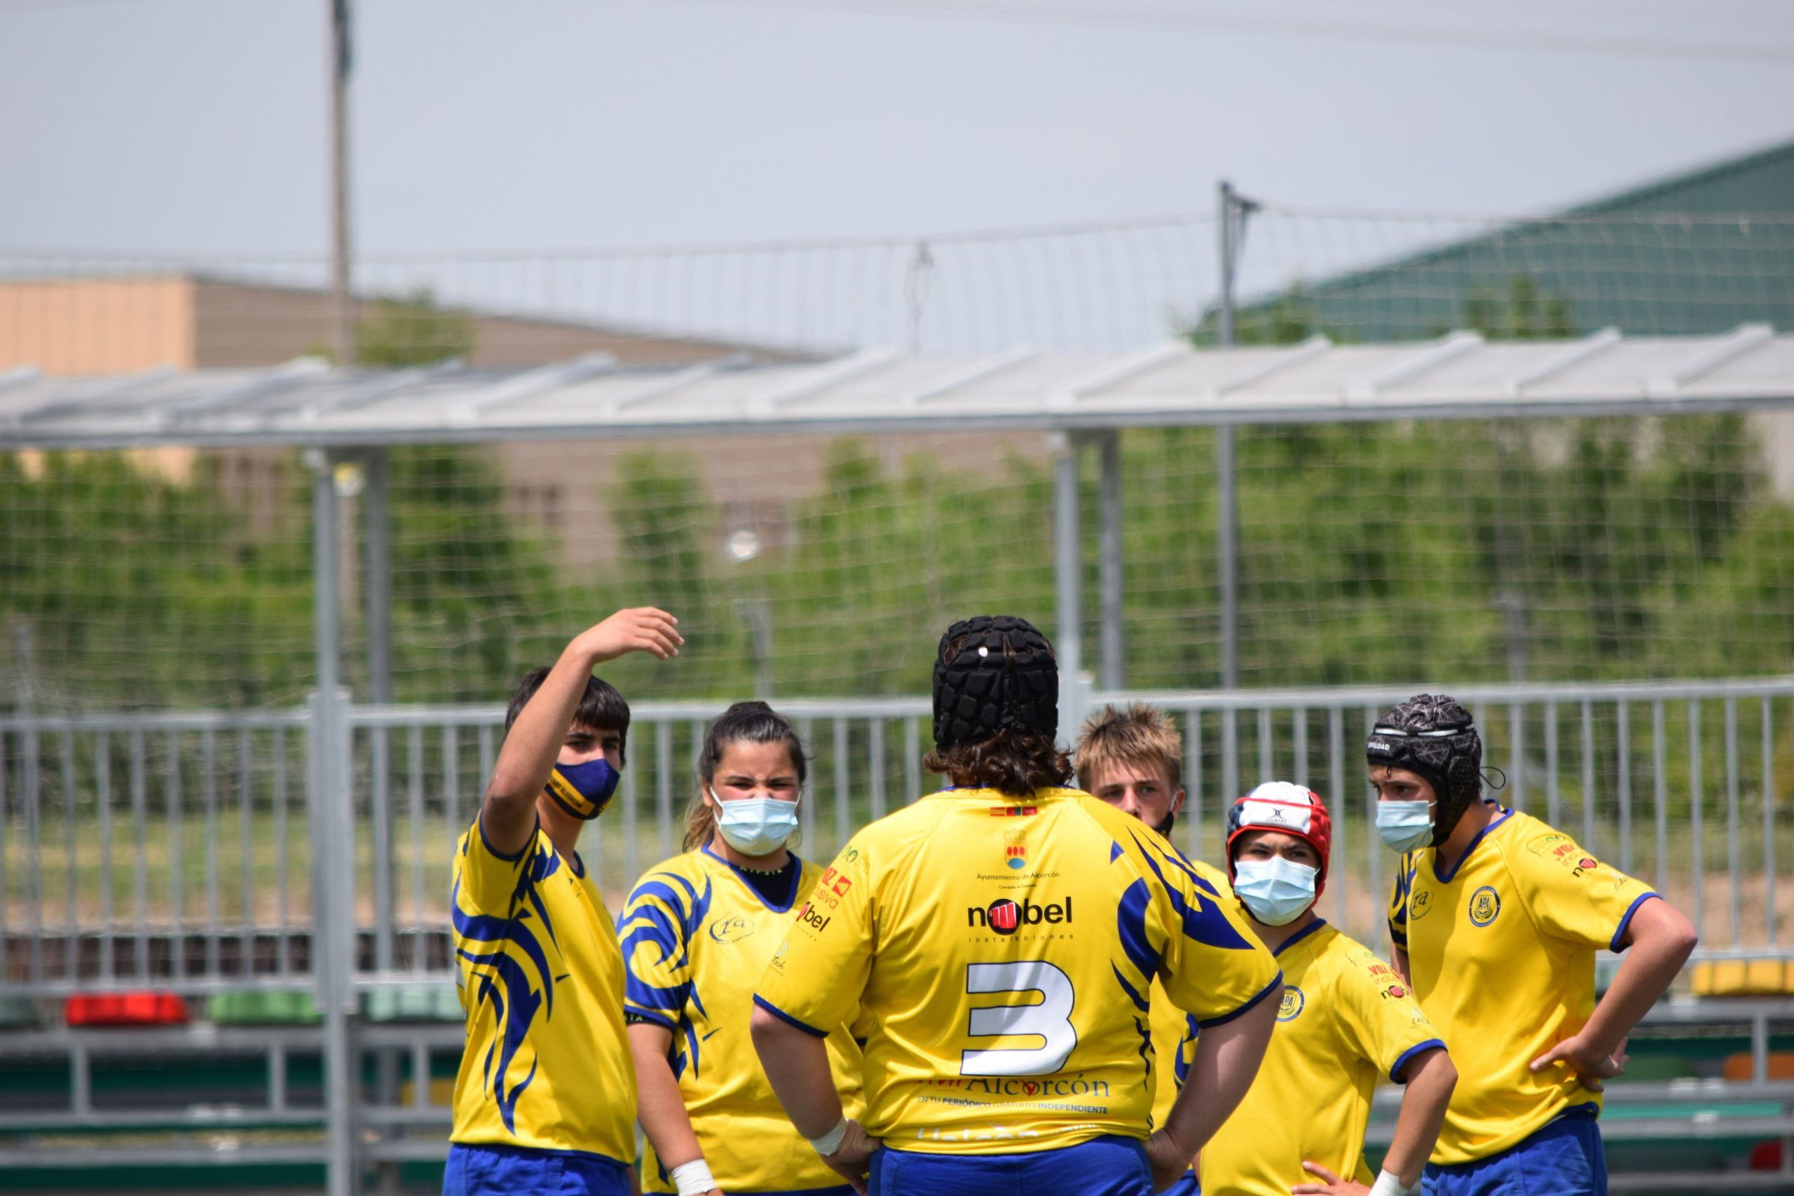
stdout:
[[(673, 1031), (669, 1063), (710, 1174), (725, 1192), (836, 1187), (841, 1176), (798, 1135), (766, 1083), (748, 1036), (753, 986), (784, 941), (791, 907), (834, 875), (800, 862), (791, 900), (768, 906), (709, 848), (666, 861), (637, 884), (623, 909), (623, 1008)], [(831, 1027), (829, 1069), (849, 1117), (863, 1106), (859, 1045)], [(644, 1144), (642, 1187), (671, 1192), (653, 1144)]]

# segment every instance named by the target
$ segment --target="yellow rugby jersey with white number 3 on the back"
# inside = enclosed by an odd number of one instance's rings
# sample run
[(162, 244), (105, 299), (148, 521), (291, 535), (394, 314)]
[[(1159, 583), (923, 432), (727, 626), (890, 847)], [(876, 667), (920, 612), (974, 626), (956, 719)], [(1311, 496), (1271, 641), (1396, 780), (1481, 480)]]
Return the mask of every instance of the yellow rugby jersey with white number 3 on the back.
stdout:
[(870, 1133), (942, 1155), (1141, 1139), (1154, 977), (1198, 1022), (1277, 965), (1177, 850), (1075, 789), (949, 789), (841, 850), (755, 1002), (809, 1033), (856, 1002)]

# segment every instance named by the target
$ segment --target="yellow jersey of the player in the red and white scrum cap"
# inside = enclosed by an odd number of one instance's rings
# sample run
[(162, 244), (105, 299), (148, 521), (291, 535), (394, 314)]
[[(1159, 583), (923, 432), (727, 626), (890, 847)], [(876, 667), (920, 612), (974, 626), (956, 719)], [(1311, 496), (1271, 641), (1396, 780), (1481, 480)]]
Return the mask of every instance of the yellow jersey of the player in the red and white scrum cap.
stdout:
[(1326, 922), (1308, 923), (1276, 954), (1277, 1029), (1252, 1088), (1202, 1148), (1202, 1191), (1288, 1196), (1315, 1183), (1304, 1158), (1369, 1187), (1371, 1094), (1444, 1042), (1401, 975)]

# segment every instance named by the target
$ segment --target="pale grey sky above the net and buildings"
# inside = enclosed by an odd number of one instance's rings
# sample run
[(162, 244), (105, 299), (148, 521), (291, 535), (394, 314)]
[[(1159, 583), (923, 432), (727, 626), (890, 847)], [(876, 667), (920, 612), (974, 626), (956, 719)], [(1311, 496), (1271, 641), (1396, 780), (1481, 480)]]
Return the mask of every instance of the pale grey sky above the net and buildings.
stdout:
[[(327, 34), (0, 0), (0, 255), (323, 255)], [(1511, 215), (1787, 138), (1785, 0), (355, 4), (370, 262), (1100, 224), (1222, 178)]]

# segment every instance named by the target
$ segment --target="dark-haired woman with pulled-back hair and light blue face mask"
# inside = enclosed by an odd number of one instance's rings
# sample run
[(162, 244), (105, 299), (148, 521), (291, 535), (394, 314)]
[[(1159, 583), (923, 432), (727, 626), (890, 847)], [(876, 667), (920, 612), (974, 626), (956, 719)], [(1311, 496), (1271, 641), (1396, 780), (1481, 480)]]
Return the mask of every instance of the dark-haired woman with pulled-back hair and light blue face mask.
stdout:
[[(807, 773), (789, 719), (730, 706), (705, 733), (685, 854), (651, 868), (623, 911), (623, 1011), (648, 1135), (642, 1189), (845, 1196), (797, 1135), (753, 1054), (753, 986), (791, 909), (836, 877), (786, 846)], [(832, 1026), (829, 1069), (858, 1117), (859, 1045)]]

